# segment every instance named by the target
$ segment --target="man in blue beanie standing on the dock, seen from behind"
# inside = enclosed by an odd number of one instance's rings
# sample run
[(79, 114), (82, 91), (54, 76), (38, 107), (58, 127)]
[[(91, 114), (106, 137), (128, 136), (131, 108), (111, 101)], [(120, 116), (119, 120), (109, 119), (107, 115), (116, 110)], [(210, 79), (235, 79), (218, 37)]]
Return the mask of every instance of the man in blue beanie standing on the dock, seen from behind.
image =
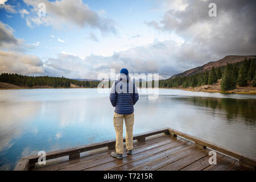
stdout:
[(126, 149), (127, 154), (131, 155), (133, 150), (133, 123), (134, 123), (134, 104), (139, 100), (139, 94), (134, 81), (130, 80), (129, 72), (123, 68), (120, 71), (118, 81), (112, 85), (110, 92), (111, 104), (115, 107), (114, 127), (116, 134), (115, 152), (111, 156), (117, 159), (123, 158), (123, 119), (126, 127)]

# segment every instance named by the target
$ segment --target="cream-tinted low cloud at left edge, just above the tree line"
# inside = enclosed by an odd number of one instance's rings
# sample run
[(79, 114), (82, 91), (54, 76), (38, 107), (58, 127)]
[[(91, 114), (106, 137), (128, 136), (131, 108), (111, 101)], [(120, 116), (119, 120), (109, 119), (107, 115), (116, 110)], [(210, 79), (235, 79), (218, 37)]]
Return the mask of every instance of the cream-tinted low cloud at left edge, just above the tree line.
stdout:
[(32, 75), (44, 73), (43, 62), (34, 55), (0, 50), (0, 73)]

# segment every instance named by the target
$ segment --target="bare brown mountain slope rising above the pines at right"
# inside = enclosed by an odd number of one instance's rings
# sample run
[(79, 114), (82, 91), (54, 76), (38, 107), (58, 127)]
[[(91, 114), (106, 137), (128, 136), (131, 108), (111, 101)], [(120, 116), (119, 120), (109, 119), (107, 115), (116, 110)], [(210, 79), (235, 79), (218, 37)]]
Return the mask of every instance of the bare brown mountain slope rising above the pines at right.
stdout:
[(209, 71), (210, 69), (212, 69), (212, 67), (218, 68), (218, 67), (225, 66), (228, 63), (237, 63), (237, 62), (243, 61), (245, 57), (246, 59), (249, 59), (249, 57), (252, 59), (252, 58), (255, 58), (256, 56), (225, 56), (223, 59), (220, 59), (218, 61), (210, 61), (209, 63), (204, 64), (201, 67), (196, 67), (193, 69), (189, 69), (183, 73), (173, 75), (171, 78), (195, 75), (196, 73)]

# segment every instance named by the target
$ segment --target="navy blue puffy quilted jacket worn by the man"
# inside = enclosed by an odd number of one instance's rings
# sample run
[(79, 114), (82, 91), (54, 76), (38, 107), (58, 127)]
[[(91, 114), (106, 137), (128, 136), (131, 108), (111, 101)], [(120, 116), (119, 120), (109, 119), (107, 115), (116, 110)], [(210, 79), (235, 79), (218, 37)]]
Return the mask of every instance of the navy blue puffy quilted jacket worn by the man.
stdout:
[(113, 83), (109, 98), (115, 107), (115, 113), (133, 114), (133, 105), (139, 100), (139, 94), (134, 82), (124, 75)]

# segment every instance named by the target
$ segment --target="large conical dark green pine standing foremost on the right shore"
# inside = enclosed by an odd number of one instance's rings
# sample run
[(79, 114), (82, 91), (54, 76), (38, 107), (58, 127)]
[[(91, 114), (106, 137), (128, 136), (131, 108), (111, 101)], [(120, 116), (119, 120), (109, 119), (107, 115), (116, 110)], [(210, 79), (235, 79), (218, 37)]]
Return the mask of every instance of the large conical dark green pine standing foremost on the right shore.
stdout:
[(236, 88), (236, 78), (234, 76), (233, 67), (231, 64), (227, 64), (224, 74), (222, 75), (221, 90), (228, 91)]

